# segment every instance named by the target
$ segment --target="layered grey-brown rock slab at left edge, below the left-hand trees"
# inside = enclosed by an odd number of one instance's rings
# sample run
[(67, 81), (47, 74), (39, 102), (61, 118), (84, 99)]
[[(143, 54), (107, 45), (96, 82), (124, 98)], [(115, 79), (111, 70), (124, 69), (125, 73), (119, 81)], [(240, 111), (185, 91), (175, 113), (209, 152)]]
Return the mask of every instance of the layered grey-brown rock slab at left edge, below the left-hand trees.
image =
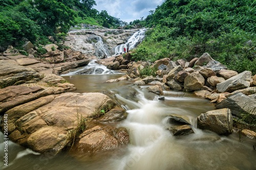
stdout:
[(26, 81), (38, 81), (41, 76), (32, 68), (16, 64), (0, 63), (0, 86), (1, 88), (23, 84)]

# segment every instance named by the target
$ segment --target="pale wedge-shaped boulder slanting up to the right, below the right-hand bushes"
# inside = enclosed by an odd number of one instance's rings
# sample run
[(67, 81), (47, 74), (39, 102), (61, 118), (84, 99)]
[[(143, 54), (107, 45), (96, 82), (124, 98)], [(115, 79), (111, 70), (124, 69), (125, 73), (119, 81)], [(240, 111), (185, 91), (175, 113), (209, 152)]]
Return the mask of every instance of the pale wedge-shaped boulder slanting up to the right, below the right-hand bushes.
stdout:
[(243, 88), (250, 87), (251, 71), (241, 72), (237, 76), (233, 76), (230, 79), (217, 84), (217, 90), (219, 92), (230, 92)]

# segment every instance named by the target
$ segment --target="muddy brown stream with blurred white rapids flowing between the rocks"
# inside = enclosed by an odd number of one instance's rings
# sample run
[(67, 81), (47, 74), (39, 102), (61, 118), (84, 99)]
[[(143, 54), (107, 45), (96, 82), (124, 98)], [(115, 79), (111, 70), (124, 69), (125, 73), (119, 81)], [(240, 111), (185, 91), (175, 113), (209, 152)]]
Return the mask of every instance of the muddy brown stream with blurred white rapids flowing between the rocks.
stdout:
[[(90, 67), (90, 65), (88, 66)], [(0, 169), (256, 169), (255, 139), (233, 132), (229, 136), (202, 131), (196, 128), (197, 116), (215, 109), (208, 100), (193, 94), (164, 91), (165, 101), (137, 87), (132, 81), (104, 83), (121, 77), (120, 74), (67, 75), (75, 84), (74, 92), (110, 91), (129, 115), (125, 120), (110, 126), (129, 130), (130, 144), (115, 151), (92, 156), (74, 157), (66, 152), (53, 156), (41, 155), (9, 141), (9, 166), (0, 162)], [(168, 115), (186, 117), (194, 134), (175, 137), (168, 127)], [(3, 134), (0, 136), (0, 154), (4, 154)], [(3, 157), (2, 157), (3, 158)]]

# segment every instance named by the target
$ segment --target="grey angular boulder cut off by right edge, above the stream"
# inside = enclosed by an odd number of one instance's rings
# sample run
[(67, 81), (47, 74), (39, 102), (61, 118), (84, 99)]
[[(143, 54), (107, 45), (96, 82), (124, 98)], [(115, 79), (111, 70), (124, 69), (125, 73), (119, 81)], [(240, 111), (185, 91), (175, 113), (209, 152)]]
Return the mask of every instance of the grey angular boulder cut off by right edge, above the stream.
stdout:
[(215, 105), (217, 109), (229, 108), (234, 115), (248, 113), (252, 117), (256, 117), (255, 100), (241, 92), (234, 93), (227, 99)]

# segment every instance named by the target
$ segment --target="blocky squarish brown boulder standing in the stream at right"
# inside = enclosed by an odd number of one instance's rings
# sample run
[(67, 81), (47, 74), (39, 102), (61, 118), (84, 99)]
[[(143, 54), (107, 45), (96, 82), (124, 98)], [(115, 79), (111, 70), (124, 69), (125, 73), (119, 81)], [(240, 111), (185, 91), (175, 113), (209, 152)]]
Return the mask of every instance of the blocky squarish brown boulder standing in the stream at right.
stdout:
[(230, 109), (212, 110), (202, 113), (197, 117), (197, 127), (203, 130), (209, 130), (219, 135), (231, 134), (232, 114)]

